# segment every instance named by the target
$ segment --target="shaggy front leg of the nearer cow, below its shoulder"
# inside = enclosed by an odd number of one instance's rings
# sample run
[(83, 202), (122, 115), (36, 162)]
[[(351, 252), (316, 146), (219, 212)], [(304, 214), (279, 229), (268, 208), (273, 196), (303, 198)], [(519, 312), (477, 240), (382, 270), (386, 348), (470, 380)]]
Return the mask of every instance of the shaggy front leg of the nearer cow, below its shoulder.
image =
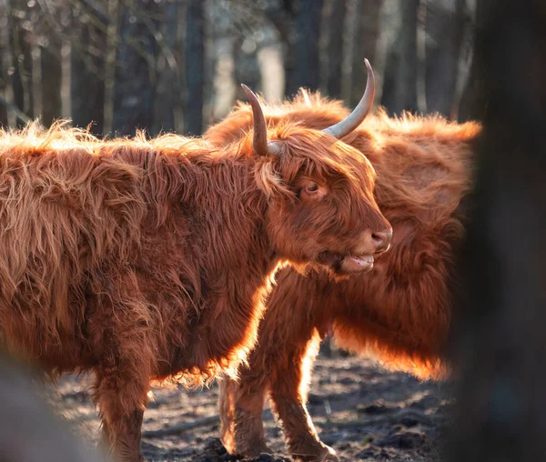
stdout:
[(132, 273), (113, 276), (91, 305), (89, 341), (96, 353), (94, 399), (103, 446), (117, 461), (139, 462), (140, 434), (156, 350), (148, 307)]

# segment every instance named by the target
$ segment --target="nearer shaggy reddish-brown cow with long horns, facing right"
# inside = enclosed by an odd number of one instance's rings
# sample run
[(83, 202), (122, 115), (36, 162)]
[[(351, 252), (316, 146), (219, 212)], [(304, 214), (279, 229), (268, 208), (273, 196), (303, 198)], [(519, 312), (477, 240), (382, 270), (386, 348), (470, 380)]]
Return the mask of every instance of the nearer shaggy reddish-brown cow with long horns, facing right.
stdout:
[(150, 379), (237, 370), (279, 265), (343, 275), (389, 246), (373, 169), (332, 136), (368, 114), (373, 85), (323, 132), (267, 129), (248, 96), (254, 130), (237, 146), (0, 133), (0, 344), (54, 376), (94, 371), (123, 460), (141, 459)]

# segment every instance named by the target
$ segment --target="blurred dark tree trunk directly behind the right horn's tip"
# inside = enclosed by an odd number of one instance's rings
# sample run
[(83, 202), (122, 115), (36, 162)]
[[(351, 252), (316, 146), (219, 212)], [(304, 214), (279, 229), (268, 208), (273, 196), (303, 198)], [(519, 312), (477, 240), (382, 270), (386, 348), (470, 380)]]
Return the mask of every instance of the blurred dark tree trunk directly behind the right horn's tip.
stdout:
[[(359, 104), (364, 95), (368, 71), (364, 58), (369, 60), (372, 68), (376, 68), (376, 50), (379, 38), (379, 12), (383, 0), (357, 0), (357, 24), (355, 28), (354, 46), (351, 56), (350, 106)], [(377, 103), (377, 102), (376, 102)]]

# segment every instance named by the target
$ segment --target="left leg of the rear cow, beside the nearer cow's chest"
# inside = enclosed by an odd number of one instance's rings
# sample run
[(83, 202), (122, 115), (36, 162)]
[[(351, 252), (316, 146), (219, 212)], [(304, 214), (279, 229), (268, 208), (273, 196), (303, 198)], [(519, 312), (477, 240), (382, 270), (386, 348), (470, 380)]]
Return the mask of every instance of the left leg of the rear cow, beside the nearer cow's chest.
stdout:
[(271, 453), (262, 421), (266, 387), (263, 382), (249, 383), (245, 372), (239, 383), (230, 379), (220, 382), (220, 436), (229, 454), (257, 457)]

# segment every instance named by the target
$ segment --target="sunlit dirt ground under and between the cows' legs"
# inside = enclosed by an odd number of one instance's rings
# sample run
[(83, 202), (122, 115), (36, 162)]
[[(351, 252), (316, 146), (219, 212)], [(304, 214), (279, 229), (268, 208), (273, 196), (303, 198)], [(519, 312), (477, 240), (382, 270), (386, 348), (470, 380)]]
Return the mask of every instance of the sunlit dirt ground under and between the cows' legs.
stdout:
[[(74, 431), (95, 444), (99, 421), (89, 382), (89, 377), (64, 377), (47, 396)], [(154, 396), (144, 416), (147, 461), (234, 460), (217, 439), (216, 385), (195, 392), (155, 389)], [(396, 462), (440, 462), (440, 432), (449, 406), (445, 384), (422, 383), (368, 359), (339, 355), (319, 357), (308, 404), (322, 441), (342, 460)], [(268, 408), (264, 419), (275, 456), (252, 460), (290, 460)]]

